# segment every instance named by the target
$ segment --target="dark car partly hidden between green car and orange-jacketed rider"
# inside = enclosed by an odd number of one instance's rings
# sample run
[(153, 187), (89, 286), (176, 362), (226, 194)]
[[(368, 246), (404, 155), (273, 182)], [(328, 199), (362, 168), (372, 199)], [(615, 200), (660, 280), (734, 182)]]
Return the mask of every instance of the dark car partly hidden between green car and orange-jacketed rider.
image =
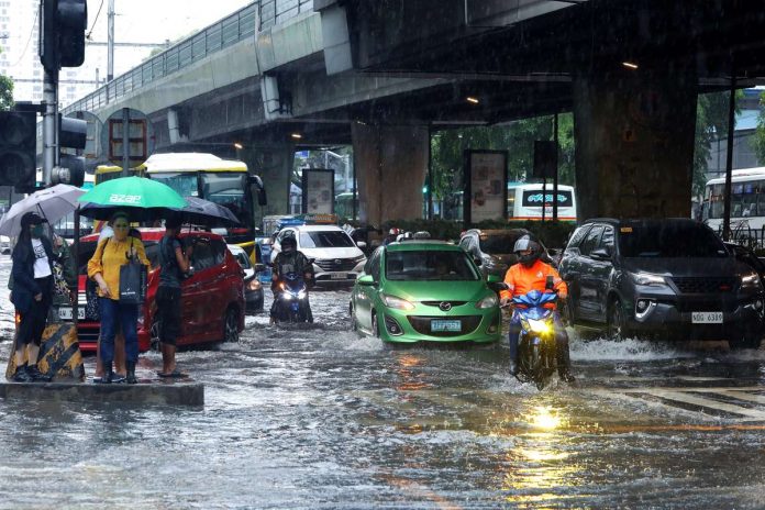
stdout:
[[(515, 241), (523, 235), (532, 234), (525, 229), (470, 229), (459, 236), (459, 246), (473, 257), (485, 276), (496, 275), (505, 278), (508, 268), (518, 262), (512, 248)], [(554, 264), (544, 244), (542, 250), (542, 260)]]

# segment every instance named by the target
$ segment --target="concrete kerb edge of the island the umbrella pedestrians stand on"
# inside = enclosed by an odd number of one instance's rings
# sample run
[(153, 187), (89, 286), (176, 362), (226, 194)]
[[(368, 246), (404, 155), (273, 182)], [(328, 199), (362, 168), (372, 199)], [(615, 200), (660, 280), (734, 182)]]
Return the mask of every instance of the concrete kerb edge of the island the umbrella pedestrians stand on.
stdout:
[(190, 379), (137, 385), (87, 382), (0, 382), (0, 398), (149, 406), (204, 406), (204, 385)]

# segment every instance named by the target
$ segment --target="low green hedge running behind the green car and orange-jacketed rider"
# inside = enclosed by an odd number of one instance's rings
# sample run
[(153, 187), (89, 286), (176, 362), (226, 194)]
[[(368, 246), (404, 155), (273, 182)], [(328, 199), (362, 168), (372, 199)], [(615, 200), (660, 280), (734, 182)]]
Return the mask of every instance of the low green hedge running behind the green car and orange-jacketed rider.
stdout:
[[(397, 220), (382, 224), (382, 232), (388, 232), (392, 226), (409, 232), (429, 232), (432, 239), (445, 241), (458, 241), (459, 234), (467, 230), (462, 222), (448, 220)], [(481, 221), (469, 229), (525, 229), (536, 235), (548, 247), (563, 247), (568, 241), (569, 234), (576, 229), (576, 224), (567, 221)]]

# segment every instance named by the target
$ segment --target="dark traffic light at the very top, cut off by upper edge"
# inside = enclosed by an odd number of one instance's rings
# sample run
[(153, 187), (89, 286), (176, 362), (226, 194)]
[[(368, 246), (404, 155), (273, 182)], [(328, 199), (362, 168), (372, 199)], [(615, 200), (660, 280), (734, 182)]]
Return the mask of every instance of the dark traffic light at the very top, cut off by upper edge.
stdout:
[(40, 62), (48, 71), (85, 62), (86, 0), (43, 0)]

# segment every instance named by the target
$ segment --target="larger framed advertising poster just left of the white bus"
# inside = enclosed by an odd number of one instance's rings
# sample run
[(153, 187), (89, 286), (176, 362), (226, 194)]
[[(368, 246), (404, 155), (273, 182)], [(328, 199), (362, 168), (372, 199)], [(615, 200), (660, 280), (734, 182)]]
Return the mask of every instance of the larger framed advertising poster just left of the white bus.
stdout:
[(507, 153), (505, 151), (466, 151), (465, 221), (507, 218)]

